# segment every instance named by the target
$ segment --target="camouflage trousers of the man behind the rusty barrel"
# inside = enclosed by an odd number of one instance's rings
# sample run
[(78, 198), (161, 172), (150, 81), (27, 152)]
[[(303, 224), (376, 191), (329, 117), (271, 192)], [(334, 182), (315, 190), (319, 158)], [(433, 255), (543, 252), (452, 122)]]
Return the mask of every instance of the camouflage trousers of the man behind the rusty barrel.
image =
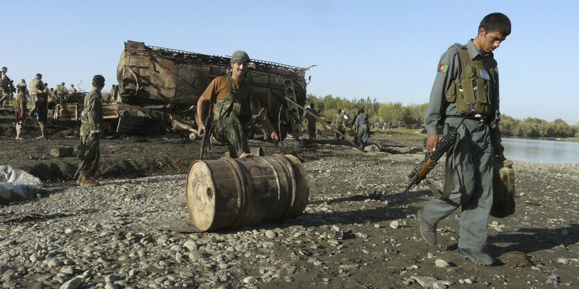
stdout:
[(236, 116), (225, 116), (213, 125), (213, 135), (221, 143), (227, 142), (231, 157), (239, 157), (242, 152), (250, 152), (247, 131)]

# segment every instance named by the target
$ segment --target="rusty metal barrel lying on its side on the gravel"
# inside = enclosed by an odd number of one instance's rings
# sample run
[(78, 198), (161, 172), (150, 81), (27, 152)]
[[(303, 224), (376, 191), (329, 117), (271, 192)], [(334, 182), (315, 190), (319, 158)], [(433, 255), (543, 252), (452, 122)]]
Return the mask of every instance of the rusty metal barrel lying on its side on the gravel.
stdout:
[(200, 231), (296, 218), (309, 198), (306, 171), (293, 155), (193, 161), (185, 191)]

